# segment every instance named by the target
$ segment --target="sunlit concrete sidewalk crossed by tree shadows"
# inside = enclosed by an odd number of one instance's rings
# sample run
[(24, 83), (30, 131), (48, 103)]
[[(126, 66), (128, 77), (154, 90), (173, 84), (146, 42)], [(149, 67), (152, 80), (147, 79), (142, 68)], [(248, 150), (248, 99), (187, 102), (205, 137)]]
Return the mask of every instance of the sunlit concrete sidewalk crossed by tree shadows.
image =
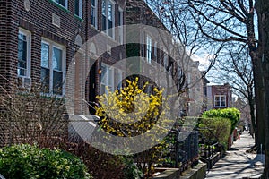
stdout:
[(263, 174), (264, 155), (250, 154), (246, 150), (254, 145), (254, 139), (243, 132), (240, 139), (235, 141), (206, 175), (207, 179), (259, 178)]

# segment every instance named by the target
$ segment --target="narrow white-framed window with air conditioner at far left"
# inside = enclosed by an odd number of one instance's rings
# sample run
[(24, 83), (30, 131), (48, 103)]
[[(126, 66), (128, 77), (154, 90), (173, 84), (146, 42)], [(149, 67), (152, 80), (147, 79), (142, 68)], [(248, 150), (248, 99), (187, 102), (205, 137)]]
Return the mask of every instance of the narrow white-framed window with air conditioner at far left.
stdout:
[(19, 30), (18, 35), (18, 76), (30, 77), (30, 31)]

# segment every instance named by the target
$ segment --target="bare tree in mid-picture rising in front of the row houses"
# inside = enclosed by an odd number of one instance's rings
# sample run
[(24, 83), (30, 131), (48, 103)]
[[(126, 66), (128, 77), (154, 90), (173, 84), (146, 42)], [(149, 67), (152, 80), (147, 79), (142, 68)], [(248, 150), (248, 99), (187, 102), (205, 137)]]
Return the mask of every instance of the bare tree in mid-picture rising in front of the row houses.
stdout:
[[(203, 35), (199, 33), (193, 17), (190, 13), (187, 13), (188, 7), (186, 3), (185, 5), (182, 5), (181, 1), (179, 3), (172, 0), (145, 1), (164, 24), (165, 30), (169, 30), (169, 33), (171, 33), (173, 37), (173, 41), (175, 42), (172, 47), (173, 51), (167, 51), (169, 55), (173, 54), (173, 56), (177, 56), (177, 59), (169, 60), (169, 63), (164, 64), (164, 67), (167, 72), (171, 72), (171, 76), (177, 85), (178, 95), (180, 96), (181, 101), (186, 101), (179, 106), (187, 106), (190, 102), (189, 100), (192, 100), (192, 98), (195, 98), (194, 95), (197, 95), (192, 91), (196, 90), (201, 79), (204, 78), (206, 73), (213, 67), (223, 46), (220, 43), (214, 43), (214, 41), (211, 40), (212, 44), (215, 44), (215, 46), (213, 48), (206, 47), (208, 44), (204, 43)], [(163, 38), (161, 38), (161, 41), (166, 49), (171, 49), (170, 41), (167, 42), (166, 39)], [(198, 71), (198, 67), (196, 66), (196, 69), (194, 68), (196, 65), (195, 61), (197, 60), (195, 54), (200, 53), (203, 53), (205, 58), (208, 59), (208, 64), (204, 65), (204, 72), (200, 72), (200, 75), (197, 75), (198, 72), (196, 71)], [(180, 69), (175, 69), (177, 66), (179, 66)], [(178, 78), (178, 76), (180, 77)], [(195, 76), (195, 78), (192, 76)], [(168, 84), (167, 86), (170, 87), (170, 85), (171, 84)], [(203, 93), (201, 96), (203, 96)], [(197, 101), (192, 101), (193, 105), (194, 102), (198, 103)], [(200, 102), (200, 106), (202, 108), (202, 102)]]

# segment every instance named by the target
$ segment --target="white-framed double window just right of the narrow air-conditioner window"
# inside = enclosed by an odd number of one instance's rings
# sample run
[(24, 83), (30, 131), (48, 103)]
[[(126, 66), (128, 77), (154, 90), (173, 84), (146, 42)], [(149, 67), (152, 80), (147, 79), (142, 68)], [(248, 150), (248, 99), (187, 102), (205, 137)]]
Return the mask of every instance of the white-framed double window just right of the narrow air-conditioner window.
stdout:
[(41, 82), (45, 93), (65, 94), (65, 47), (42, 40)]

